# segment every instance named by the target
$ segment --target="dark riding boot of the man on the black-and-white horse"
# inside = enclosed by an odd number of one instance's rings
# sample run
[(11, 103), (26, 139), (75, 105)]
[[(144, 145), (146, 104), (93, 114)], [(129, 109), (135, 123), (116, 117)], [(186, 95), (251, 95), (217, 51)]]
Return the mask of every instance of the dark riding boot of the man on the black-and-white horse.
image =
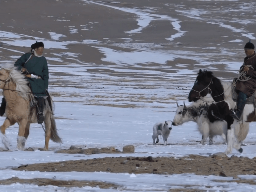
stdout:
[(236, 120), (240, 120), (240, 117), (243, 113), (243, 108), (246, 104), (246, 99), (247, 99), (247, 95), (243, 92), (239, 92), (238, 93), (238, 98), (237, 98), (237, 109), (231, 109), (230, 115), (236, 119)]

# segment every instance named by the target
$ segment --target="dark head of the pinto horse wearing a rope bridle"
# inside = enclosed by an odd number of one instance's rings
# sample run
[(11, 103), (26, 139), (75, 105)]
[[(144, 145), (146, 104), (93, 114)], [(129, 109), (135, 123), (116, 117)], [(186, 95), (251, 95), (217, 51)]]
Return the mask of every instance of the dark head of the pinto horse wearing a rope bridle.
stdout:
[(195, 84), (188, 94), (188, 101), (195, 102), (201, 97), (205, 97), (208, 93), (211, 93), (209, 86), (212, 84), (212, 78), (213, 75), (211, 71), (202, 71), (200, 69)]

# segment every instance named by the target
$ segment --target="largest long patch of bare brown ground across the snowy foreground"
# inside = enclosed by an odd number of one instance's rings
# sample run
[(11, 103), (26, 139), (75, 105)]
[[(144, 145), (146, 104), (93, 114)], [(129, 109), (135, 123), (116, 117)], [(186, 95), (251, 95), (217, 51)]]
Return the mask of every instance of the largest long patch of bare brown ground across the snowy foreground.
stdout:
[[(110, 151), (110, 150), (109, 150)], [(113, 152), (113, 151), (110, 151)], [(83, 152), (84, 153), (84, 152)], [(118, 152), (115, 152), (118, 153)], [(119, 152), (122, 153), (122, 152)], [(41, 172), (111, 172), (134, 174), (182, 174), (217, 175), (238, 178), (237, 175), (256, 175), (256, 157), (105, 157), (77, 161), (40, 163), (13, 168), (14, 170)]]

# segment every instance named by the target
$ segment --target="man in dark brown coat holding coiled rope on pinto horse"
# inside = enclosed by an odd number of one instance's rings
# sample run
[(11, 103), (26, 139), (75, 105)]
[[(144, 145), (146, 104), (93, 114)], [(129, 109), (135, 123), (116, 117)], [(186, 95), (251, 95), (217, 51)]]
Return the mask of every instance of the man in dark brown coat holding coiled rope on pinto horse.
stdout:
[(247, 57), (244, 58), (239, 70), (239, 76), (242, 75), (243, 78), (238, 78), (236, 83), (237, 109), (231, 109), (231, 116), (237, 120), (240, 120), (246, 99), (251, 97), (256, 90), (256, 54), (254, 45), (250, 41), (244, 46), (244, 52)]

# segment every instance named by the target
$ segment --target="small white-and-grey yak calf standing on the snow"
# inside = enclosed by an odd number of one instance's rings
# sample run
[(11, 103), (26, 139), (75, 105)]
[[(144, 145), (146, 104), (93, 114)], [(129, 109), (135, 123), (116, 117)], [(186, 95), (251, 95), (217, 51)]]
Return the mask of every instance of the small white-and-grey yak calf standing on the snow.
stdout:
[[(156, 145), (156, 143), (159, 142), (158, 135), (162, 135), (164, 140), (164, 145), (167, 145), (167, 138), (169, 137), (171, 130), (172, 130), (172, 121), (165, 121), (164, 123), (163, 122), (156, 123), (153, 126), (153, 135), (152, 135), (153, 145)], [(155, 142), (155, 139), (156, 139), (156, 142)]]

